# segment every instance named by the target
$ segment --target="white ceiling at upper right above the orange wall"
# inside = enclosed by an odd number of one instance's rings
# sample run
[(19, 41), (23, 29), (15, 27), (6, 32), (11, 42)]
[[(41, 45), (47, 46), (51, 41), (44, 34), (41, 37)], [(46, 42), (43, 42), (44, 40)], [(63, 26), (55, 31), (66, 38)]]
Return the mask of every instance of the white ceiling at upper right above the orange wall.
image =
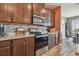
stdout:
[(57, 6), (61, 6), (61, 15), (66, 18), (79, 16), (78, 3), (47, 3), (45, 5), (52, 9), (56, 8)]

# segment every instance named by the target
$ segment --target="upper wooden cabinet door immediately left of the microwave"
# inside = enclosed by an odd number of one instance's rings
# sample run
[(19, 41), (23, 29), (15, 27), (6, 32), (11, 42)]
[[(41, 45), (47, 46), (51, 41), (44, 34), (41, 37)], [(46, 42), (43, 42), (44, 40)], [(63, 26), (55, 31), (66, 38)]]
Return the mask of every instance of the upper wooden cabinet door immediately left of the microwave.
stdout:
[(24, 7), (23, 23), (31, 24), (32, 23), (32, 4), (30, 4), (30, 3), (23, 4), (23, 7)]

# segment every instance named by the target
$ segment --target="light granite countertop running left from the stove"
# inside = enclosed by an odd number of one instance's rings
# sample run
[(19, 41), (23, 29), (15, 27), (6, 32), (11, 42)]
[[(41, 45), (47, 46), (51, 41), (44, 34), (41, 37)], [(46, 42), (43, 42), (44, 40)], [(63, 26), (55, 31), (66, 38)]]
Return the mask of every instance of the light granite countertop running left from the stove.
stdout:
[(0, 41), (4, 40), (13, 40), (13, 39), (19, 39), (19, 38), (25, 38), (25, 37), (33, 37), (35, 35), (28, 34), (28, 35), (8, 35), (4, 37), (0, 37)]

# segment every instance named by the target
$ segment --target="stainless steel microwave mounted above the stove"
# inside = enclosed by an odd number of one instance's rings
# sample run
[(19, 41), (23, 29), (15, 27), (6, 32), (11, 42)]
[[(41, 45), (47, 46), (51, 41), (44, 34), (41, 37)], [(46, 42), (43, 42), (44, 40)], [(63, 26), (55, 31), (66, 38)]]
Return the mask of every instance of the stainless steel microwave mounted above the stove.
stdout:
[(44, 25), (44, 23), (45, 23), (45, 17), (33, 15), (33, 24)]

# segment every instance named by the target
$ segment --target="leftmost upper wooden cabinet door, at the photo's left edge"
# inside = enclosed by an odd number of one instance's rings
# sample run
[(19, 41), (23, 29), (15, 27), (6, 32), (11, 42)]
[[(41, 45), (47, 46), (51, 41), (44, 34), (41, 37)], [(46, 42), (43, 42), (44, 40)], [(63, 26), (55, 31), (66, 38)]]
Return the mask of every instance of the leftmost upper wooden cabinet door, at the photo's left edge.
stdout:
[(11, 5), (0, 3), (0, 21), (11, 22)]

